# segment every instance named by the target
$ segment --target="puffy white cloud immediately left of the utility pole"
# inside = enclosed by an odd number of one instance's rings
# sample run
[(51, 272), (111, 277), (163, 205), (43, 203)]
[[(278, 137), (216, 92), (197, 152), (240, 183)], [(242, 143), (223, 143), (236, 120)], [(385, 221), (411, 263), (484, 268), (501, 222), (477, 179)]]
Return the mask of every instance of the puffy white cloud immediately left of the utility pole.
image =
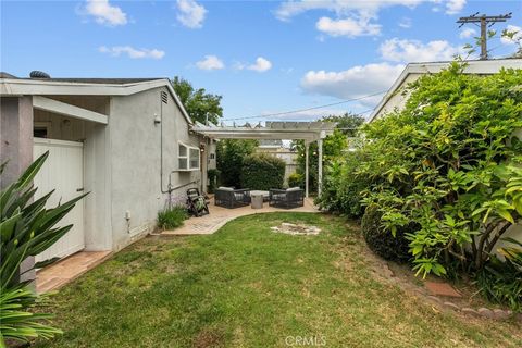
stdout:
[(455, 54), (461, 53), (461, 49), (445, 40), (423, 44), (418, 40), (393, 38), (381, 45), (380, 52), (387, 61), (409, 63), (449, 61)]

